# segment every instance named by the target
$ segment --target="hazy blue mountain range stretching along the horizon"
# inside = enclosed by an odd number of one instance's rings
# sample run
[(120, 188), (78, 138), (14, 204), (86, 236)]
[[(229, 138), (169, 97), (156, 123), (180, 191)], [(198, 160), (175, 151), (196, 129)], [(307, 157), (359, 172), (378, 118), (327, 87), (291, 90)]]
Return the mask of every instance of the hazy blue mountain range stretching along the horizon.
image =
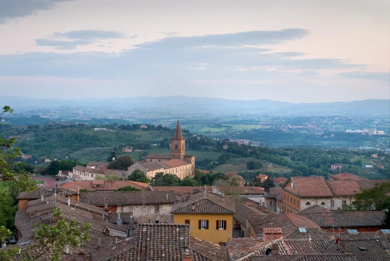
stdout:
[(27, 97), (0, 96), (0, 105), (13, 108), (51, 108), (58, 106), (118, 107), (128, 109), (163, 109), (186, 113), (258, 113), (268, 115), (340, 115), (390, 117), (390, 100), (369, 99), (352, 102), (290, 103), (266, 99), (254, 101), (227, 100), (209, 97), (130, 97), (108, 99), (32, 99)]

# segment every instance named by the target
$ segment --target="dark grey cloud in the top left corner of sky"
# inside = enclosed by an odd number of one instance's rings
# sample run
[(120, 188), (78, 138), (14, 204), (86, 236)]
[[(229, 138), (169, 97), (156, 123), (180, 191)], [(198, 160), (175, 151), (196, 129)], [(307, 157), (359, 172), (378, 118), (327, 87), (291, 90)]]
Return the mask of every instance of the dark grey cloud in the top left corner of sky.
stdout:
[(29, 16), (39, 10), (49, 10), (58, 2), (73, 0), (0, 0), (0, 24), (9, 19)]

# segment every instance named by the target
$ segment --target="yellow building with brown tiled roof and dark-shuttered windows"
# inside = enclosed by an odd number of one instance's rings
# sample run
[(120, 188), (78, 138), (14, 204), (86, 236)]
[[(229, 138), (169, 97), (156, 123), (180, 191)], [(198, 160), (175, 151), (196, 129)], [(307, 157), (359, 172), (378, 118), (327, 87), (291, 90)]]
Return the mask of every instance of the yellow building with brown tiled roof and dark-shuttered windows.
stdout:
[(225, 246), (233, 237), (235, 199), (213, 187), (184, 196), (172, 208), (174, 223), (189, 224), (190, 235)]

